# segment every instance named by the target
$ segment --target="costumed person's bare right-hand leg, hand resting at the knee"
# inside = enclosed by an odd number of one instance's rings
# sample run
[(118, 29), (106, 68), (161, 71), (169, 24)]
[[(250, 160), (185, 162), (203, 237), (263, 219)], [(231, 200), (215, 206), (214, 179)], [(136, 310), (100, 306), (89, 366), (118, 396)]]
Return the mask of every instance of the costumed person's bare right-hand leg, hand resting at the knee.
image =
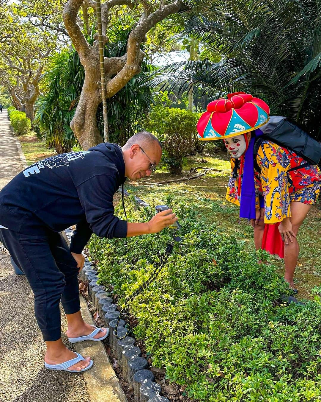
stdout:
[[(306, 218), (311, 206), (312, 205), (306, 205), (301, 202), (291, 202), (292, 216), (290, 217), (290, 222), (292, 223), (292, 230), (295, 235), (299, 232), (299, 228)], [(298, 262), (299, 251), (300, 247), (296, 237), (293, 238), (293, 242), (284, 244), (284, 280), (289, 283), (291, 288), (294, 288), (293, 276)]]

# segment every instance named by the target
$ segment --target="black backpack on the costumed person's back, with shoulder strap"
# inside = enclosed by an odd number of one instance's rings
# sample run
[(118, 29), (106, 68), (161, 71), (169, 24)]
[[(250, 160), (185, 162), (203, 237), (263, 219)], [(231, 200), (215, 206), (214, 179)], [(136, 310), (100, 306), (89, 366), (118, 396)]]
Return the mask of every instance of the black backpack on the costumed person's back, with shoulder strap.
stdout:
[[(254, 143), (254, 167), (258, 172), (261, 171), (256, 162), (256, 156), (262, 142), (266, 139), (278, 144), (281, 147), (287, 148), (301, 156), (307, 163), (302, 164), (300, 168), (311, 165), (317, 165), (321, 159), (321, 143), (310, 137), (303, 129), (295, 123), (289, 121), (286, 117), (270, 116), (269, 121), (260, 129), (263, 135), (258, 137)], [(290, 169), (295, 170), (297, 167)]]

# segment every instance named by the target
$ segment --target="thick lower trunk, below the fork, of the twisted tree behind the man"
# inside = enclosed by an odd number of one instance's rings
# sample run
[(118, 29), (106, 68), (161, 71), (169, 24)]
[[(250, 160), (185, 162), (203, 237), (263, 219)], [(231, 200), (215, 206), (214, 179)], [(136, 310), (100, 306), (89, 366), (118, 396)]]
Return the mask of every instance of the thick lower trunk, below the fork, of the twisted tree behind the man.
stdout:
[(85, 80), (81, 90), (79, 103), (70, 127), (77, 137), (83, 150), (87, 150), (102, 142), (102, 137), (97, 127), (97, 108), (102, 102), (100, 88), (99, 62), (97, 68), (90, 68), (85, 72)]

